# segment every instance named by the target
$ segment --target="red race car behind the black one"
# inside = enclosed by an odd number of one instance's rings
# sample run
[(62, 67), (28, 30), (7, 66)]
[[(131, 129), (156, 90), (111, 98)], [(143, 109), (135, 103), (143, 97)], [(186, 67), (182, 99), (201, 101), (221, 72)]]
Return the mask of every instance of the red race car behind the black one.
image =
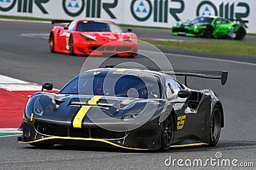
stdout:
[[(103, 19), (52, 20), (52, 24), (68, 23), (65, 27), (54, 26), (49, 44), (51, 52), (70, 55), (103, 55), (134, 57), (138, 53), (138, 40), (131, 29), (128, 32), (115, 22)], [(104, 45), (104, 46), (103, 46)]]

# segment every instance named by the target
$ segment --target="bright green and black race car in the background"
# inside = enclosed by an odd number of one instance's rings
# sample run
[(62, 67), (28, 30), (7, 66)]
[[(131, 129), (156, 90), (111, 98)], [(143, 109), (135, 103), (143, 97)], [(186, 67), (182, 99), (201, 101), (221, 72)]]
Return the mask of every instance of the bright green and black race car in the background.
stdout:
[(246, 25), (244, 23), (248, 21), (234, 21), (236, 22), (217, 16), (200, 16), (186, 22), (177, 22), (173, 25), (172, 32), (174, 35), (204, 36), (206, 38), (229, 36), (235, 39), (243, 39), (246, 35)]

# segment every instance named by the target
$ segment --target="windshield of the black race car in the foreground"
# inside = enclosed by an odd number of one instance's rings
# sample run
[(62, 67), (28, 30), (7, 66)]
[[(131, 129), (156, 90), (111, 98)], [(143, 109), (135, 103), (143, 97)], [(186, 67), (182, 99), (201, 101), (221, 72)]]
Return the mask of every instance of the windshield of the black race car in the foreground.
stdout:
[(60, 94), (159, 99), (160, 87), (161, 83), (157, 76), (118, 71), (88, 72), (70, 81)]

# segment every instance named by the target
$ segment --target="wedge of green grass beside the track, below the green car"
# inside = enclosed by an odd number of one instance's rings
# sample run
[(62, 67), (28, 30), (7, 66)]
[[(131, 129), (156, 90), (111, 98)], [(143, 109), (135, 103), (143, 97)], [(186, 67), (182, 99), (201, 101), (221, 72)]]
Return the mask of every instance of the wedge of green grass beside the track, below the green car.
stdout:
[(142, 39), (156, 46), (168, 46), (172, 48), (183, 48), (186, 50), (196, 50), (212, 53), (229, 53), (229, 54), (245, 54), (256, 55), (255, 43), (244, 43), (237, 41), (154, 41)]

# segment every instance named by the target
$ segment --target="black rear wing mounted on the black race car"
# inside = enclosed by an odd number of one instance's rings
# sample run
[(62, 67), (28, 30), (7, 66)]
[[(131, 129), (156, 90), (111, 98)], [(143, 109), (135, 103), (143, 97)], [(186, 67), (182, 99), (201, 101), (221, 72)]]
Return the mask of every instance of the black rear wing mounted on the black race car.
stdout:
[[(114, 68), (116, 66), (107, 65), (106, 68)], [(129, 69), (145, 69), (145, 67), (128, 67), (128, 66), (120, 66), (122, 68)], [(160, 73), (175, 75), (175, 76), (184, 76), (185, 77), (185, 85), (188, 86), (187, 77), (200, 77), (200, 78), (210, 78), (210, 79), (220, 79), (221, 85), (225, 85), (228, 79), (227, 71), (203, 71), (203, 70), (189, 70), (189, 69), (160, 69), (157, 67), (147, 67), (149, 70), (158, 71)]]

